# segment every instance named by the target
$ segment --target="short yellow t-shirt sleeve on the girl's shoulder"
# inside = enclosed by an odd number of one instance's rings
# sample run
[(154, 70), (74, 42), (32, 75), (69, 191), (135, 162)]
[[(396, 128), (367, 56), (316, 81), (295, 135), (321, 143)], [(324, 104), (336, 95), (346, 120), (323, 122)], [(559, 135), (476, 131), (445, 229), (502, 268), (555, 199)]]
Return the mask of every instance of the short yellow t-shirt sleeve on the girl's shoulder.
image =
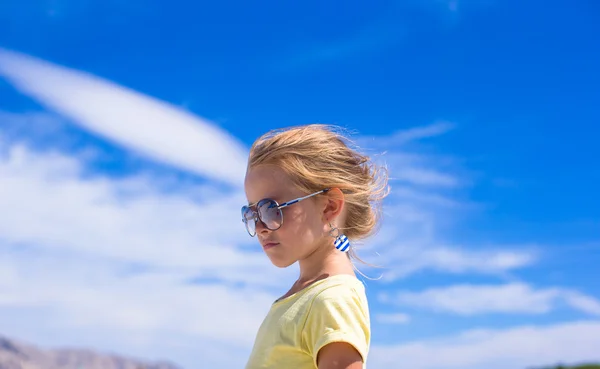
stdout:
[(354, 346), (365, 362), (371, 339), (367, 301), (349, 286), (325, 289), (312, 303), (302, 337), (315, 367), (319, 350), (333, 342)]

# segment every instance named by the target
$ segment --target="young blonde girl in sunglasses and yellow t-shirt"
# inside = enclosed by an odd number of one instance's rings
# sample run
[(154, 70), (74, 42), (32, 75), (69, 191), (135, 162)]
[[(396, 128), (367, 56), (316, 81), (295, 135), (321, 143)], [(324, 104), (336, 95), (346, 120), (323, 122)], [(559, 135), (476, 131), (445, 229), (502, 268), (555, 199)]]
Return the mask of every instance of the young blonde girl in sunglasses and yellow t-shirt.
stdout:
[(351, 261), (373, 233), (387, 178), (330, 126), (268, 132), (250, 150), (242, 221), (270, 261), (300, 276), (264, 319), (246, 369), (358, 369), (370, 317)]

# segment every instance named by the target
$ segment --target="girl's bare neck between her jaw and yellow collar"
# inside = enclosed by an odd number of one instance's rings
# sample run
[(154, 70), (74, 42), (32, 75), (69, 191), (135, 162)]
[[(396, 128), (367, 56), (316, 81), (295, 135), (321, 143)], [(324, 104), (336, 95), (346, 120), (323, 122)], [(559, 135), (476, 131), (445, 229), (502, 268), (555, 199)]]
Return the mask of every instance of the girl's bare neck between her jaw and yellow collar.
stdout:
[(333, 245), (317, 247), (311, 254), (299, 260), (298, 264), (299, 282), (311, 281), (324, 275), (354, 274), (348, 255), (337, 250)]

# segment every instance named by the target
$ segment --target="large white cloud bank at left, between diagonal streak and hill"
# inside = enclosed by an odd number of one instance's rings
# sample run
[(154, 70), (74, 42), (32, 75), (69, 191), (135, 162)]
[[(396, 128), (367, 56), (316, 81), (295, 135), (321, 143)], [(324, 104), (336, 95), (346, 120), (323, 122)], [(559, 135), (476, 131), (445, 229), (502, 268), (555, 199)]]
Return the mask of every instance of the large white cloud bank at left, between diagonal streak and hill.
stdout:
[(239, 247), (256, 246), (241, 191), (164, 193), (150, 174), (111, 178), (61, 153), (0, 145), (3, 334), (69, 346), (83, 336), (78, 345), (187, 367), (199, 347), (215, 364), (213, 353), (247, 352), (295, 270)]

